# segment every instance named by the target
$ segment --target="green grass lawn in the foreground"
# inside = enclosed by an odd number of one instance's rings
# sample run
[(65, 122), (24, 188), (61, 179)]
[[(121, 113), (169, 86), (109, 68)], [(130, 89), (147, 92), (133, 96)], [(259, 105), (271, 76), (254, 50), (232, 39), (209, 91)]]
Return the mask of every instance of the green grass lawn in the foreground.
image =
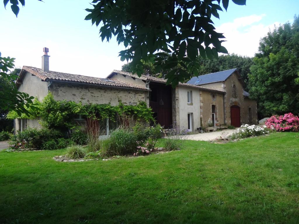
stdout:
[(0, 152), (0, 223), (299, 223), (299, 133), (56, 162)]

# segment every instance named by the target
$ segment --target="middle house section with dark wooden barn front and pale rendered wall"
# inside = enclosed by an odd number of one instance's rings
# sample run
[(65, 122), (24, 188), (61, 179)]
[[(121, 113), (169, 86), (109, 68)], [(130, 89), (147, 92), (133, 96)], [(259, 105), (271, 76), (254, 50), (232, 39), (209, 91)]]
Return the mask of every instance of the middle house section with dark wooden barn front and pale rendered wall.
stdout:
[(181, 82), (176, 88), (172, 88), (166, 85), (166, 79), (146, 75), (138, 77), (119, 70), (114, 70), (106, 78), (122, 80), (150, 89), (149, 106), (154, 112), (156, 121), (164, 128), (175, 128), (177, 131), (186, 129), (196, 131), (201, 127), (201, 113), (204, 111), (200, 98), (202, 93), (216, 95), (219, 99), (222, 99), (225, 94), (223, 90)]

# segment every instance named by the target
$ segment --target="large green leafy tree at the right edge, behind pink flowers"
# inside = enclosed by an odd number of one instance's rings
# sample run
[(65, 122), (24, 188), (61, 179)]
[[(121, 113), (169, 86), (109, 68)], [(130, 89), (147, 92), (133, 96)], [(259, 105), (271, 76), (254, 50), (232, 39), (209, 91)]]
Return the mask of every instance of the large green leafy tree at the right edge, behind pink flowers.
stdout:
[(261, 116), (299, 113), (299, 17), (260, 40), (249, 74), (249, 92)]

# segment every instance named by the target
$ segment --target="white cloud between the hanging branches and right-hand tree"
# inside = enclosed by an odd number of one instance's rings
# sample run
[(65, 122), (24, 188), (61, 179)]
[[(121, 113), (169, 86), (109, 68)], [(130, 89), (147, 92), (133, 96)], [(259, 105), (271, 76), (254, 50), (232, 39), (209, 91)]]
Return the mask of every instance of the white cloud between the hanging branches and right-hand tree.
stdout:
[(222, 45), (229, 53), (254, 56), (254, 53), (258, 51), (260, 38), (264, 37), (269, 29), (272, 30), (274, 25), (279, 25), (278, 22), (264, 25), (261, 20), (265, 16), (265, 14), (245, 16), (216, 27), (216, 31), (224, 33), (226, 38), (226, 42)]

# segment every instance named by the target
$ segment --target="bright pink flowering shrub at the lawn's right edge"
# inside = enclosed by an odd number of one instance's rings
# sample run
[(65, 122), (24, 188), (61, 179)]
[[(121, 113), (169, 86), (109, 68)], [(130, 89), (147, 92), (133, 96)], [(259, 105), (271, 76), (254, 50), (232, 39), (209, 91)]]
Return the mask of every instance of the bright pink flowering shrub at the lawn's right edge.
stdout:
[(299, 118), (292, 113), (273, 115), (266, 120), (265, 125), (276, 131), (299, 131)]

